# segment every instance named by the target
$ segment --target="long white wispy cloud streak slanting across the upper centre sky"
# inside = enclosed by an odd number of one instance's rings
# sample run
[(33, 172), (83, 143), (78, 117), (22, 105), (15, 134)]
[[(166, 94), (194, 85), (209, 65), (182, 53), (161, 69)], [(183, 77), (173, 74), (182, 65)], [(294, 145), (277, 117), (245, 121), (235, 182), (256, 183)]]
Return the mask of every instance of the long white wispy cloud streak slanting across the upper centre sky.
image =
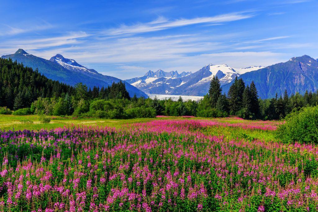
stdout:
[(155, 21), (135, 24), (131, 26), (122, 25), (119, 28), (113, 28), (105, 31), (106, 35), (115, 36), (115, 35), (133, 35), (145, 32), (153, 32), (166, 30), (170, 28), (188, 26), (193, 24), (218, 24), (231, 21), (242, 20), (246, 18), (251, 18), (254, 15), (252, 14), (243, 14), (243, 13), (229, 13), (213, 17), (198, 17), (192, 19), (177, 19), (177, 20), (168, 20), (166, 18), (160, 17)]

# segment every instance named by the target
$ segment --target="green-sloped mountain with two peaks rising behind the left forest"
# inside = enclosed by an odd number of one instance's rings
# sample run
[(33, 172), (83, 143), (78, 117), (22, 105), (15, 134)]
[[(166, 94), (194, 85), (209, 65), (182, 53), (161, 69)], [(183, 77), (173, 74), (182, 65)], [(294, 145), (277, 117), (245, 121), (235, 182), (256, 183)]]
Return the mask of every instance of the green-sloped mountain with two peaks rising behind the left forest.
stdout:
[[(47, 60), (28, 54), (23, 49), (18, 49), (14, 54), (4, 55), (1, 58), (11, 58), (13, 61), (17, 60), (17, 62), (23, 63), (25, 66), (33, 68), (33, 70), (38, 69), (40, 73), (49, 79), (59, 80), (68, 85), (76, 85), (77, 83), (82, 82), (86, 84), (87, 87), (93, 88), (94, 86), (99, 86), (101, 88), (121, 80), (115, 77), (102, 75), (94, 69), (88, 69), (79, 65), (73, 59), (64, 58), (60, 54)], [(148, 95), (133, 85), (130, 85), (129, 83), (125, 83), (125, 85), (130, 96), (136, 94), (137, 97), (148, 97)]]

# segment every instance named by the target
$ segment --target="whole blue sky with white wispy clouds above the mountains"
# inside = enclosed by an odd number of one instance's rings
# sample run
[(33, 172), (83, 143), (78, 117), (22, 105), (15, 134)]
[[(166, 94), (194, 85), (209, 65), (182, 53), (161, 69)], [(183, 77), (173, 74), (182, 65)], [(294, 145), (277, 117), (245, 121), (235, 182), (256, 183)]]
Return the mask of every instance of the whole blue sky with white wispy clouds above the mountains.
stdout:
[(318, 58), (317, 0), (3, 1), (0, 55), (55, 54), (121, 79)]

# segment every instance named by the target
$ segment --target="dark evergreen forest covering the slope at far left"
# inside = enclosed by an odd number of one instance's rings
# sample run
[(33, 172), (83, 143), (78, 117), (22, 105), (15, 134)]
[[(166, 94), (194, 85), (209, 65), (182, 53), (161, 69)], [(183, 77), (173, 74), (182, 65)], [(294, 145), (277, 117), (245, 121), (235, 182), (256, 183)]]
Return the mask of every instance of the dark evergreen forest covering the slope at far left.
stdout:
[(23, 64), (0, 58), (0, 106), (10, 109), (30, 107), (38, 97), (60, 97), (73, 87), (47, 79)]

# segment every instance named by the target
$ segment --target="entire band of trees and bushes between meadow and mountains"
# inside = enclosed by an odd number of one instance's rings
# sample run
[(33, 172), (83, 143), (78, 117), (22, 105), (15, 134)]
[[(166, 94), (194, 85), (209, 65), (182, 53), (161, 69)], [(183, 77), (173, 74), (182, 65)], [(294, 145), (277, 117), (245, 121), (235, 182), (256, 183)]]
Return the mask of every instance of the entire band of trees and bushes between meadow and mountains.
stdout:
[(296, 93), (288, 97), (259, 99), (255, 84), (245, 85), (235, 79), (227, 94), (222, 94), (218, 77), (213, 77), (209, 93), (199, 101), (145, 99), (130, 97), (123, 82), (106, 88), (87, 88), (79, 83), (69, 86), (46, 78), (11, 59), (0, 58), (0, 114), (73, 115), (96, 118), (143, 118), (156, 115), (227, 117), (237, 115), (244, 119), (278, 120), (292, 110), (315, 106), (317, 93)]

